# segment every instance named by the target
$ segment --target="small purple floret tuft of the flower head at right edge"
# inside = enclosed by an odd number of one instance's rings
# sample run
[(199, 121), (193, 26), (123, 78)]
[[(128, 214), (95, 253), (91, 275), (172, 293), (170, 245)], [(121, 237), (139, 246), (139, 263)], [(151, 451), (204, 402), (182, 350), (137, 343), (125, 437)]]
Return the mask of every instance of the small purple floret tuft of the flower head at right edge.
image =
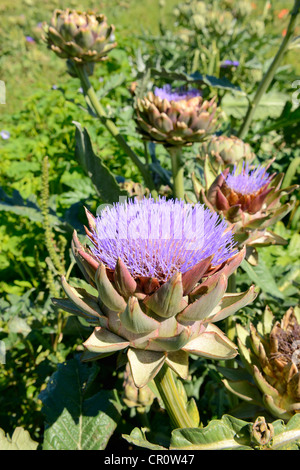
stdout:
[(240, 194), (254, 194), (271, 181), (271, 176), (262, 166), (250, 170), (249, 164), (243, 163), (241, 171), (234, 166), (231, 173), (226, 177), (226, 184), (233, 191)]

